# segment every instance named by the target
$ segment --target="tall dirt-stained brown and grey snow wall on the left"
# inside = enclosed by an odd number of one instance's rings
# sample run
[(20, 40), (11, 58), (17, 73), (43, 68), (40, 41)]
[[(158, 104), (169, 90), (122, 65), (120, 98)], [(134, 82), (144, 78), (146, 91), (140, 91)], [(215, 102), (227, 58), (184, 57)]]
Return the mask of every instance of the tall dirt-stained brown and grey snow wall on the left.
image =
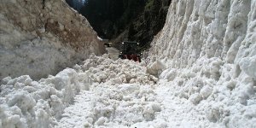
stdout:
[(41, 78), (103, 52), (89, 22), (62, 0), (1, 0), (0, 38), (0, 79)]

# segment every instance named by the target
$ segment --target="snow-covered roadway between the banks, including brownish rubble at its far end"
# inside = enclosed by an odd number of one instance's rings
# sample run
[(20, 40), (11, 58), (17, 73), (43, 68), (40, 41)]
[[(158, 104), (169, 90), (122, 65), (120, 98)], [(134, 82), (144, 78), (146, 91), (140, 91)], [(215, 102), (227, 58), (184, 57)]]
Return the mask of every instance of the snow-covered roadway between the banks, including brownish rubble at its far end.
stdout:
[[(97, 64), (92, 66), (91, 64)], [(160, 73), (160, 61), (145, 63), (92, 57), (77, 66), (90, 82), (64, 109), (55, 127), (218, 127), (187, 99), (175, 96), (168, 81), (149, 73)], [(88, 84), (89, 83), (89, 84)]]

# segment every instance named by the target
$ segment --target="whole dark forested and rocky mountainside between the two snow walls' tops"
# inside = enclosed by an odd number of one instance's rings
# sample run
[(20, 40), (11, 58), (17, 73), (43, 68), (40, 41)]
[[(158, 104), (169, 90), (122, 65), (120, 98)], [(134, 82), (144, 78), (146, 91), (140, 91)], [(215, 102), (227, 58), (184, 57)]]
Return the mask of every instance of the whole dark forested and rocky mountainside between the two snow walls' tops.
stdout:
[[(83, 2), (66, 1), (73, 8), (79, 7), (74, 3)], [(78, 11), (101, 38), (137, 41), (146, 49), (164, 26), (170, 3), (171, 0), (86, 0)]]

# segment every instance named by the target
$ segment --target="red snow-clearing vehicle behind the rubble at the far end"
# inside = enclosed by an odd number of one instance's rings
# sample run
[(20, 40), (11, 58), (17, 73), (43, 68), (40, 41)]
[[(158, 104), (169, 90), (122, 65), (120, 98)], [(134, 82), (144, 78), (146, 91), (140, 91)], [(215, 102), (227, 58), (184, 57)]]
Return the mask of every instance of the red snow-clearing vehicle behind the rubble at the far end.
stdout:
[(141, 62), (141, 54), (137, 50), (138, 45), (137, 42), (122, 42), (119, 48), (119, 58)]

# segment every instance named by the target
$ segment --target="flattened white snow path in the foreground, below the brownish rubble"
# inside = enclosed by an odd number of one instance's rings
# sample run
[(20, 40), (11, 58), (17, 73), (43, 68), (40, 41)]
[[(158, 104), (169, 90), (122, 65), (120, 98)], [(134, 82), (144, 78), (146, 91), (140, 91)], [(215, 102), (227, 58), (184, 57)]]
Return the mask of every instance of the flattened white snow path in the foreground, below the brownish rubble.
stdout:
[[(93, 87), (96, 86), (96, 87)], [(85, 90), (81, 92), (78, 96), (75, 96), (75, 102), (70, 107), (66, 108), (63, 113), (63, 118), (59, 121), (57, 128), (61, 127), (212, 127), (217, 126), (209, 125), (211, 124), (206, 118), (205, 113), (201, 111), (196, 111), (195, 105), (189, 100), (181, 99), (173, 95), (172, 89), (166, 84), (154, 84), (151, 86), (148, 85), (139, 85), (139, 84), (119, 84), (119, 85), (110, 85), (110, 84), (98, 84), (93, 85), (91, 90)], [(140, 86), (139, 88), (137, 88)], [(138, 91), (125, 90), (128, 88), (136, 87)], [(111, 98), (106, 99), (104, 93), (105, 90), (116, 90), (119, 89), (123, 93), (122, 100), (113, 100)], [(149, 90), (154, 94), (137, 96), (134, 95), (136, 92), (142, 92)], [(104, 92), (105, 91), (105, 92)], [(130, 93), (127, 99), (125, 96)], [(101, 96), (102, 94), (102, 96)], [(108, 93), (109, 94), (109, 93)], [(118, 96), (116, 93), (113, 96)], [(148, 100), (147, 100), (148, 98)], [(151, 98), (151, 99), (150, 99)], [(104, 108), (100, 107), (102, 104), (101, 99), (105, 99)], [(104, 111), (106, 108), (113, 107), (113, 102), (117, 105), (114, 114), (110, 109), (110, 116), (106, 115)], [(153, 105), (154, 112), (145, 112), (148, 108), (148, 105)], [(140, 108), (137, 108), (139, 106)], [(103, 116), (93, 116), (92, 114), (97, 114), (95, 108), (102, 109), (97, 111), (97, 113), (102, 113)], [(194, 108), (194, 109), (193, 109)], [(148, 108), (150, 109), (150, 107)], [(133, 113), (137, 111), (138, 113)], [(158, 111), (158, 112), (157, 112)], [(102, 117), (101, 117), (102, 116)], [(107, 117), (107, 118), (106, 118)], [(101, 120), (102, 119), (102, 120)], [(102, 121), (102, 122), (101, 122)], [(200, 122), (200, 123), (199, 123)]]

